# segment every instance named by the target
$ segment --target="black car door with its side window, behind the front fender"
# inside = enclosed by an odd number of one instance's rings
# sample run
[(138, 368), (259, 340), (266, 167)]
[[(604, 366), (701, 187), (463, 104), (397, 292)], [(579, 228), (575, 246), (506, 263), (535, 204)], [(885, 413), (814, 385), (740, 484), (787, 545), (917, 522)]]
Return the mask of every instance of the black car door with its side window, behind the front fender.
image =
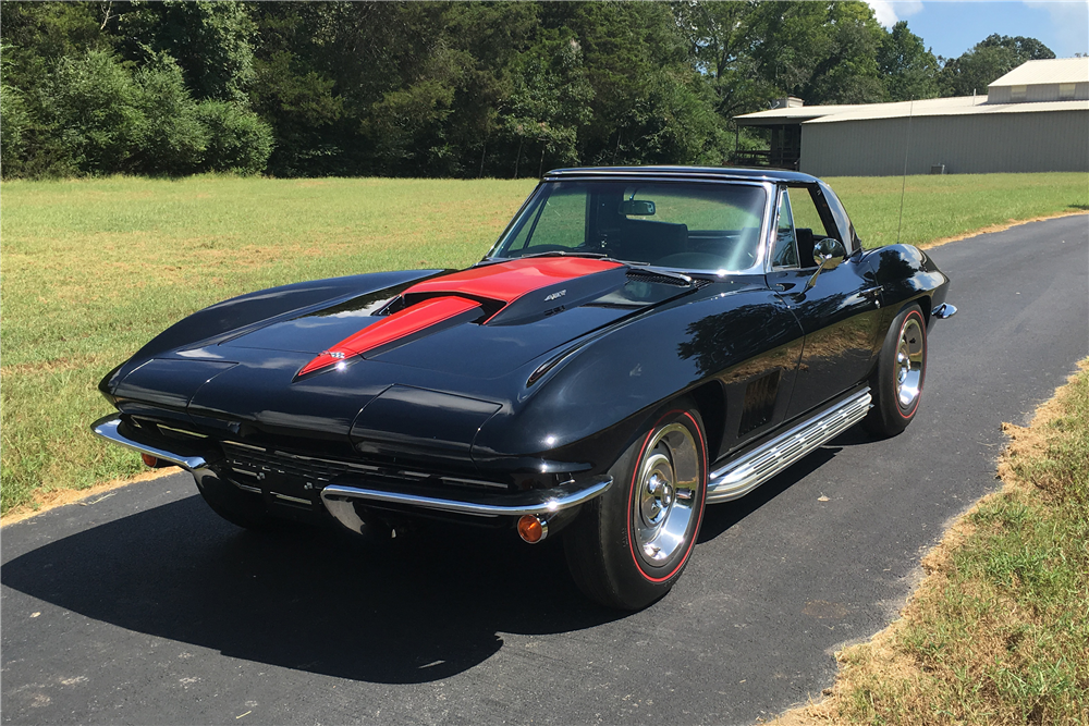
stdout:
[[(805, 226), (808, 224), (809, 226)], [(817, 185), (780, 189), (768, 284), (805, 332), (802, 362), (786, 417), (799, 416), (844, 393), (870, 373), (881, 320), (880, 287), (867, 276), (861, 250), (836, 224)], [(844, 243), (847, 259), (817, 272), (812, 246), (821, 237)]]

